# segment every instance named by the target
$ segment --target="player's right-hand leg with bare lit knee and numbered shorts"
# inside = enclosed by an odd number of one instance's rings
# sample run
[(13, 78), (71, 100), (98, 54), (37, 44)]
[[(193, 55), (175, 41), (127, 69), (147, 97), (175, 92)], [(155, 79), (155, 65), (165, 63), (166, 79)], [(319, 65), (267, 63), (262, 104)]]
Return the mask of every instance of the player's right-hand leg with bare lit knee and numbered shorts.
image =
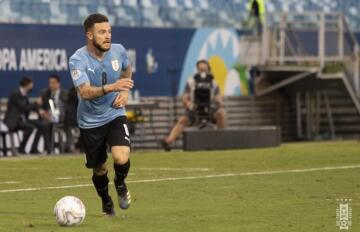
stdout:
[(114, 160), (114, 184), (119, 198), (119, 206), (121, 209), (127, 209), (131, 204), (130, 192), (125, 183), (130, 169), (130, 134), (125, 116), (118, 117), (109, 123), (108, 144)]

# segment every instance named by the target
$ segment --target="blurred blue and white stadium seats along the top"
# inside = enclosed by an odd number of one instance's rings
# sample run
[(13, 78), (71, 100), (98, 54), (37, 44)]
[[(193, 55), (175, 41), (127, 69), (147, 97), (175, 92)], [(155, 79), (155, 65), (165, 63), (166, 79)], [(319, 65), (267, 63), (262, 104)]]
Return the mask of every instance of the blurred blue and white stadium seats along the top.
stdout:
[[(81, 24), (89, 13), (109, 15), (117, 26), (246, 27), (247, 0), (0, 0), (1, 23)], [(341, 12), (360, 27), (357, 0), (267, 0), (267, 13)]]

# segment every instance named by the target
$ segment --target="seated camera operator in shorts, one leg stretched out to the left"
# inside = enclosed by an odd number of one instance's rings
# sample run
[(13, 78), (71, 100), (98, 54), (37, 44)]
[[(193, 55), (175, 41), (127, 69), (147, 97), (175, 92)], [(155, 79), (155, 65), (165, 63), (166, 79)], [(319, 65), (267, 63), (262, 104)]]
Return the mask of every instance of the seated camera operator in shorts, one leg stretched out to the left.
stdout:
[[(185, 127), (202, 123), (204, 119), (216, 123), (218, 129), (225, 127), (225, 110), (222, 97), (219, 86), (210, 72), (210, 65), (206, 60), (200, 60), (196, 63), (196, 68), (197, 73), (186, 83), (185, 93), (182, 97), (186, 115), (179, 118), (169, 136), (161, 141), (161, 145), (166, 151), (171, 150), (171, 144), (175, 142)], [(207, 98), (206, 89), (209, 90), (210, 102), (207, 103), (205, 100), (201, 104), (201, 98)]]

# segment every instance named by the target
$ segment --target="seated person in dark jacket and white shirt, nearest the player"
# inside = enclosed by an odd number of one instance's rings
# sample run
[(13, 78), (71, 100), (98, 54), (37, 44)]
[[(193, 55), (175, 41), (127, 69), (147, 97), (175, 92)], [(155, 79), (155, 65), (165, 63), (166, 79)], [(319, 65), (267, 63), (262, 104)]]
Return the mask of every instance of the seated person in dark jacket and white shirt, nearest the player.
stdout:
[[(51, 153), (52, 124), (63, 123), (65, 117), (65, 102), (67, 100), (67, 91), (61, 88), (60, 77), (52, 74), (48, 77), (48, 88), (42, 90), (38, 99), (42, 113), (41, 121), (46, 125), (45, 149)], [(50, 106), (52, 102), (52, 107)], [(52, 108), (52, 110), (51, 110)]]

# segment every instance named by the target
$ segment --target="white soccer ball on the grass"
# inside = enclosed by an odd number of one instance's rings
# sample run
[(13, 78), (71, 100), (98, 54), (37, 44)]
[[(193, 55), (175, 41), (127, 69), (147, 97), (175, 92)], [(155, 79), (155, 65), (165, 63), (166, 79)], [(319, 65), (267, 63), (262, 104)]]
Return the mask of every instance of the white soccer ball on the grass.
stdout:
[(85, 205), (77, 197), (65, 196), (56, 202), (54, 214), (61, 226), (80, 225), (85, 219)]

